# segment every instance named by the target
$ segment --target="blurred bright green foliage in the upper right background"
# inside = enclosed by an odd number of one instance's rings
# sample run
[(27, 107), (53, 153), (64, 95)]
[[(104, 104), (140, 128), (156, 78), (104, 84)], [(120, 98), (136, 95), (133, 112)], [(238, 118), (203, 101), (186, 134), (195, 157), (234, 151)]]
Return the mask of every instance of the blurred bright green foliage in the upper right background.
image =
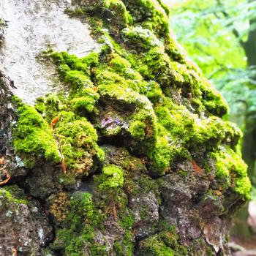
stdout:
[[(176, 1), (171, 23), (178, 41), (203, 69), (244, 126), (245, 111), (255, 109), (255, 67), (246, 67), (244, 48), (255, 30), (255, 1)], [(243, 103), (244, 102), (244, 103)]]

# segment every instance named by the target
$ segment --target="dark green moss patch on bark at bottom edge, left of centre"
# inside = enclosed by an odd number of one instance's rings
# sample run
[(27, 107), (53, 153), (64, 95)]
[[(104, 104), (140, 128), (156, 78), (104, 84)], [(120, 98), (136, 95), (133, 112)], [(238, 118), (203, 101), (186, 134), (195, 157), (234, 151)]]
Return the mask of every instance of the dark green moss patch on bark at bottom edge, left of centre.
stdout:
[(102, 225), (102, 215), (99, 214), (92, 202), (91, 194), (87, 192), (75, 192), (70, 197), (67, 217), (56, 230), (56, 240), (53, 249), (61, 249), (64, 255), (82, 256), (84, 244), (89, 249), (90, 255), (108, 255), (105, 247), (94, 240), (95, 227)]

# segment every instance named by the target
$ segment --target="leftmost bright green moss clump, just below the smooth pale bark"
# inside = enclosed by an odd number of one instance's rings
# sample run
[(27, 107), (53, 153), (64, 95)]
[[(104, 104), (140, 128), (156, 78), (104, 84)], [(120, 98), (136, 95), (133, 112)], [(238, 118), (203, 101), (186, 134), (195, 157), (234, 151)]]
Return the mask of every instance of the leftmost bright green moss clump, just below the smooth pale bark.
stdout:
[(20, 104), (18, 124), (13, 128), (13, 145), (26, 167), (34, 167), (37, 159), (60, 162), (59, 150), (47, 122), (33, 107)]

